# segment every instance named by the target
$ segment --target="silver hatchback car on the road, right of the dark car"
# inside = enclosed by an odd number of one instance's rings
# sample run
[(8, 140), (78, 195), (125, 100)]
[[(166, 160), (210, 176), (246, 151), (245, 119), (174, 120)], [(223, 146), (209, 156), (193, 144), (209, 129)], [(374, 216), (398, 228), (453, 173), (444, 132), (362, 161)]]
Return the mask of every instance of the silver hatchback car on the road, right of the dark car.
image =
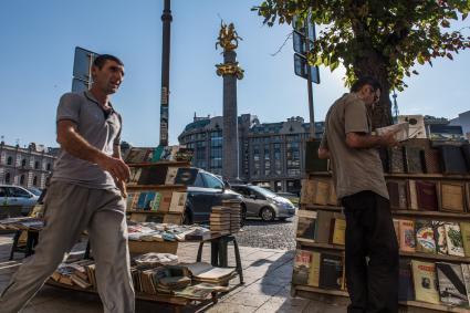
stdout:
[(275, 218), (285, 220), (295, 215), (295, 207), (288, 199), (253, 185), (232, 185), (231, 188), (244, 197), (247, 217), (260, 217), (265, 221)]

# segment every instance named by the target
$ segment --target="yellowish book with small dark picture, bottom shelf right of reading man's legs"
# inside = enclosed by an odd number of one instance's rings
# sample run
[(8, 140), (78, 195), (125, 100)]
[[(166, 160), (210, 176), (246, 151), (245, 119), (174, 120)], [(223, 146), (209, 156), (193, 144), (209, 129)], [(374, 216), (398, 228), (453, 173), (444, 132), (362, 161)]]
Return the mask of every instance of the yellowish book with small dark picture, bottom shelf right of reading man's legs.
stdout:
[(435, 263), (411, 260), (411, 273), (416, 301), (440, 304)]

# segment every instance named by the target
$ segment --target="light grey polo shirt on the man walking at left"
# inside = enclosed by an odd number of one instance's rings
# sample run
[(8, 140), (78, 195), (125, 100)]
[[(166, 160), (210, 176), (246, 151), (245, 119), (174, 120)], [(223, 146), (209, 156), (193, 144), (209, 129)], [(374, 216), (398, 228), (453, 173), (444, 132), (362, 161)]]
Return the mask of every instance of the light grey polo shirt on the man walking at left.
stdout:
[[(90, 145), (108, 156), (113, 155), (113, 146), (119, 145), (122, 126), (119, 114), (114, 109), (106, 114), (88, 91), (66, 93), (61, 97), (56, 122), (64, 119), (74, 122), (79, 134)], [(114, 179), (108, 171), (63, 149), (55, 160), (52, 176), (52, 181), (58, 180), (88, 188), (115, 188)]]

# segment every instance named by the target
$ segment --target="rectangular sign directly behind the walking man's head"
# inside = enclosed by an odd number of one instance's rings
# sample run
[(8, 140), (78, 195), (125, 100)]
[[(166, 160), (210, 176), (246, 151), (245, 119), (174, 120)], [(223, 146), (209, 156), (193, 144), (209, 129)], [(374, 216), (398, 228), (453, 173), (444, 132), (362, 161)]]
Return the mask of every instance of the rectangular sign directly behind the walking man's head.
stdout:
[[(73, 81), (72, 81), (72, 91), (80, 92), (82, 91), (82, 85), (85, 84), (86, 90), (92, 83), (92, 65), (96, 56), (100, 54), (75, 46), (75, 56), (73, 60)], [(75, 81), (76, 80), (76, 81)], [(80, 81), (80, 82), (79, 82)]]

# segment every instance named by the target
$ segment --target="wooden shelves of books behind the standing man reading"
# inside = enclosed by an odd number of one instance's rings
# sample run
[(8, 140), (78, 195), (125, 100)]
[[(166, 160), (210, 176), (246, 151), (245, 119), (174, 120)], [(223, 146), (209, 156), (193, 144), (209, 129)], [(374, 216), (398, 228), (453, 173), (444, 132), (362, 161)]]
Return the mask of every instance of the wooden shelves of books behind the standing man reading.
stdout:
[[(346, 220), (309, 142), (292, 275), (295, 295), (347, 303)], [(405, 312), (470, 312), (470, 144), (411, 138), (382, 149)]]

